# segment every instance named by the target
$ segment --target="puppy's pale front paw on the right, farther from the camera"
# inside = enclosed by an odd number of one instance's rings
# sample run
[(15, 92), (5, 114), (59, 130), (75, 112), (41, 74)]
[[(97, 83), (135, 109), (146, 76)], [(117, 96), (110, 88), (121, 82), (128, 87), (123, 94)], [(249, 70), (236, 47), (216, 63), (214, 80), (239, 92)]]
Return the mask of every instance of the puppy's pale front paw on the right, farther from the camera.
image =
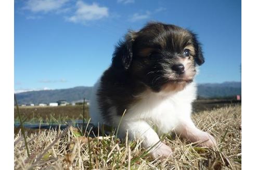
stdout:
[(202, 146), (202, 147), (205, 146), (210, 148), (217, 146), (217, 143), (214, 137), (207, 132), (200, 133), (200, 135), (198, 135), (196, 138), (198, 141), (198, 146)]

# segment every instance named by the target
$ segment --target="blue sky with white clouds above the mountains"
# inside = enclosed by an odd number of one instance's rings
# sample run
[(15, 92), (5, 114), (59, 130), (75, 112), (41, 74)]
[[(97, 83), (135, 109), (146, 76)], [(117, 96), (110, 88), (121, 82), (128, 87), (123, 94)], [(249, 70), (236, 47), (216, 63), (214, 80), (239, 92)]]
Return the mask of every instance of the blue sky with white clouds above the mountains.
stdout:
[(198, 83), (240, 81), (241, 1), (15, 1), (15, 92), (93, 86), (127, 30), (148, 21), (198, 34)]

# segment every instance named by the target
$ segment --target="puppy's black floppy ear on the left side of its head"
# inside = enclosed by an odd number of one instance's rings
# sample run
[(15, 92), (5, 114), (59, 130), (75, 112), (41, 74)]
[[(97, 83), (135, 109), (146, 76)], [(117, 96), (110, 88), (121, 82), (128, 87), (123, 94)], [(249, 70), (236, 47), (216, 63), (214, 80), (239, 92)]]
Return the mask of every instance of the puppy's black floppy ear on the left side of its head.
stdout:
[(113, 53), (112, 65), (116, 68), (127, 70), (133, 59), (133, 42), (136, 38), (135, 32), (129, 32), (125, 36), (125, 41), (120, 41)]

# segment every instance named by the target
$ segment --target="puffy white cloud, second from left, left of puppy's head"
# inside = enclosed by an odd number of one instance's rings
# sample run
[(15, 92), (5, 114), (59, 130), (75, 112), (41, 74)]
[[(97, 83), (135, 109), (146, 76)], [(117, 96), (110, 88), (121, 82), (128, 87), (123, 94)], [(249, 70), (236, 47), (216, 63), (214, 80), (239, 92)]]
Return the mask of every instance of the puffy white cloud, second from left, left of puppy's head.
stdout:
[(68, 21), (74, 23), (85, 23), (86, 21), (99, 20), (108, 17), (108, 8), (100, 7), (96, 3), (88, 5), (82, 1), (76, 3), (76, 11), (73, 16), (67, 18)]

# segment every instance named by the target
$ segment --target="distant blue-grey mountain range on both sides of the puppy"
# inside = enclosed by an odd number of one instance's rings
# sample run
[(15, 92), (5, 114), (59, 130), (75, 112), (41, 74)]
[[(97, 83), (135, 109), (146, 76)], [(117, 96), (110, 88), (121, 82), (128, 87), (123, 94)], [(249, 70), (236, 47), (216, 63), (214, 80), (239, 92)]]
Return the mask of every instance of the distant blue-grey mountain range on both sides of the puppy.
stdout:
[[(75, 87), (70, 89), (41, 90), (17, 93), (19, 104), (51, 103), (58, 100), (67, 102), (90, 100), (92, 87)], [(198, 95), (202, 98), (217, 98), (241, 95), (241, 82), (202, 83), (198, 84)]]

